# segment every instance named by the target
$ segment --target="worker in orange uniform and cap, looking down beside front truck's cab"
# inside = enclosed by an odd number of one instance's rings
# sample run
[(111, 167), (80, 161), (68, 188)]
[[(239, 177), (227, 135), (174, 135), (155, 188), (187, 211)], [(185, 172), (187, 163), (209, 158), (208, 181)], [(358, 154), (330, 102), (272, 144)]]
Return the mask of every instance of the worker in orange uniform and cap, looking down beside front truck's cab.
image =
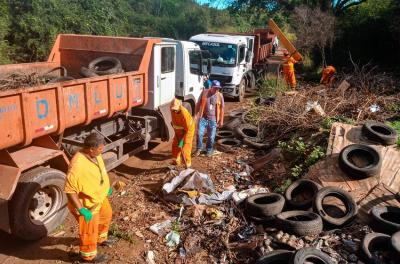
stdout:
[(172, 127), (175, 137), (172, 142), (172, 157), (174, 164), (181, 165), (182, 159), (186, 168), (192, 166), (192, 143), (195, 131), (195, 123), (192, 115), (182, 105), (182, 101), (174, 99), (171, 102)]

